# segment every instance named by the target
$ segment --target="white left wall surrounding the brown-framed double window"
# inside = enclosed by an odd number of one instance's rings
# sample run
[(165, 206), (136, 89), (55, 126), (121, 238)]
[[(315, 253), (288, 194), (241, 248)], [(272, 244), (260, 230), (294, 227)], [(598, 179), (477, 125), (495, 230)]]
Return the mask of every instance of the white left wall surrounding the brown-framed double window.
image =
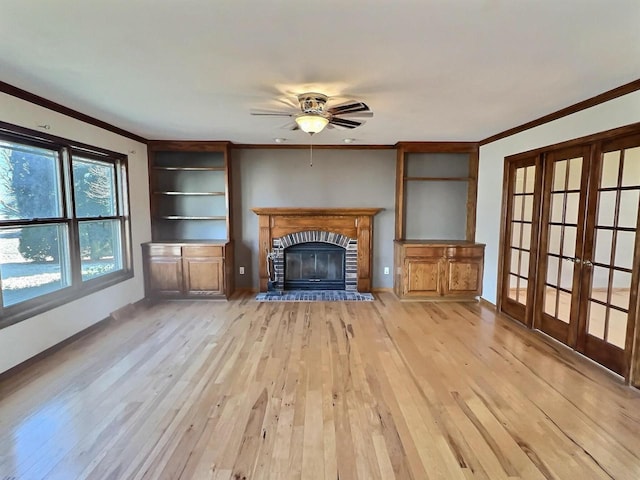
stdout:
[(115, 133), (0, 94), (0, 120), (102, 147), (129, 157), (131, 233), (135, 277), (0, 330), (0, 373), (65, 340), (144, 296), (140, 243), (151, 239), (147, 147)]

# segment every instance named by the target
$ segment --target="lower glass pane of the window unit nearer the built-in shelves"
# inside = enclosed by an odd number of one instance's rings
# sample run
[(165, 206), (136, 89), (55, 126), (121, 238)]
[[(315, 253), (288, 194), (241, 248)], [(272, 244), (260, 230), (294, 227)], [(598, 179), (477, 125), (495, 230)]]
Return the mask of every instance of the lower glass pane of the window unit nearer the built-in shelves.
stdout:
[(122, 270), (119, 220), (80, 222), (78, 228), (83, 280)]

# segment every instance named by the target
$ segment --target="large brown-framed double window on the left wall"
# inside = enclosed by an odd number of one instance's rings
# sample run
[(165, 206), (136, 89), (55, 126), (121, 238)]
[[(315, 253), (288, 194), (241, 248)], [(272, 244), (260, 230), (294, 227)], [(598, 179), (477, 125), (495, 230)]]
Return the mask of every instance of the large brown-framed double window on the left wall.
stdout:
[(0, 328), (131, 278), (126, 156), (0, 123)]

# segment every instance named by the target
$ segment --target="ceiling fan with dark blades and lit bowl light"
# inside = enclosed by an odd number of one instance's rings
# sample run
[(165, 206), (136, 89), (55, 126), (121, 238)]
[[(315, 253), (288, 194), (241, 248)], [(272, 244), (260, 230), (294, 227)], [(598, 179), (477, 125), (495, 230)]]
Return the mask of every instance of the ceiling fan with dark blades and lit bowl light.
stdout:
[(323, 93), (301, 93), (298, 95), (300, 111), (281, 112), (254, 110), (251, 112), (251, 115), (293, 118), (295, 123), (290, 126), (291, 130), (302, 130), (310, 135), (321, 132), (325, 127), (356, 128), (365, 123), (364, 120), (356, 120), (356, 118), (373, 116), (373, 112), (364, 102), (351, 100), (327, 107), (328, 101), (330, 101), (330, 97)]

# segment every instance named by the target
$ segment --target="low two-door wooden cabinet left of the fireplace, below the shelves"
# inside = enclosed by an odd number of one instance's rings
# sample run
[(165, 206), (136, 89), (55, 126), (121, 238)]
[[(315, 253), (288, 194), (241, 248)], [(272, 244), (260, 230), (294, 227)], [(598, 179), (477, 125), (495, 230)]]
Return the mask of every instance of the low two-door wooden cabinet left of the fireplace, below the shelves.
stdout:
[(229, 298), (233, 248), (224, 243), (145, 243), (145, 292), (152, 298)]

